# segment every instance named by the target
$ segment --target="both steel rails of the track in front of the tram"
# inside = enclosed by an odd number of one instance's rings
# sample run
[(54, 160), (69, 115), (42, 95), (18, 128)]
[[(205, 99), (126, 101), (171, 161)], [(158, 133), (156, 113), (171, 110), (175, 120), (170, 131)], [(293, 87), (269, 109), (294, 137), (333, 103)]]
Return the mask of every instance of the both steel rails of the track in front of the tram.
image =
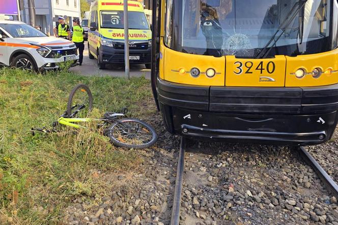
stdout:
[[(183, 185), (183, 173), (184, 173), (184, 154), (186, 151), (186, 138), (182, 137), (179, 151), (179, 158), (177, 163), (177, 176), (175, 183), (174, 201), (171, 215), (171, 224), (179, 225), (180, 223), (180, 208), (181, 208), (181, 196)], [(335, 198), (338, 199), (338, 185), (332, 180), (332, 178), (324, 171), (319, 165), (316, 159), (308, 153), (304, 147), (297, 147), (296, 151), (299, 152), (300, 157), (313, 168), (320, 180), (324, 183), (326, 189), (331, 192)]]

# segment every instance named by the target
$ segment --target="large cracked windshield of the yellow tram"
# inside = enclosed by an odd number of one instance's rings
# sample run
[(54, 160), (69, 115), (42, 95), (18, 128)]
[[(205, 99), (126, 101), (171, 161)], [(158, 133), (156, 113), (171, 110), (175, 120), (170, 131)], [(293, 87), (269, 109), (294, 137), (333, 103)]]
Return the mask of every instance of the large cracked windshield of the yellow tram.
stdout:
[(165, 43), (217, 57), (255, 58), (266, 47), (270, 57), (331, 50), (332, 1), (167, 0)]

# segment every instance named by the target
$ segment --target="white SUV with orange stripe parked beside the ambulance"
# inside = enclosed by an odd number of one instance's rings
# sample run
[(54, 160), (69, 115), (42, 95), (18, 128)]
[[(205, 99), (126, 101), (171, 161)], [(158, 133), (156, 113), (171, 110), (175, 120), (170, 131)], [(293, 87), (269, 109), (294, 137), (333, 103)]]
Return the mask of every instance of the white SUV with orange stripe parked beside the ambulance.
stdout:
[(49, 37), (23, 22), (0, 20), (0, 65), (41, 71), (77, 59), (73, 42)]

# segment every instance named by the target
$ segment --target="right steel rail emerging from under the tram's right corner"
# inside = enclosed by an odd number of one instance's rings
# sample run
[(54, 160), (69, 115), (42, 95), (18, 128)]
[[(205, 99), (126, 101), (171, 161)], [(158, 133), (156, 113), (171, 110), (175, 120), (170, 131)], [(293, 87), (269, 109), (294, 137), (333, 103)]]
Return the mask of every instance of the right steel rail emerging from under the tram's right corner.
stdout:
[(299, 153), (306, 163), (309, 164), (324, 183), (326, 188), (331, 192), (336, 199), (338, 199), (338, 185), (332, 180), (332, 178), (324, 171), (324, 169), (318, 164), (316, 159), (312, 157), (310, 153), (304, 148), (299, 147)]

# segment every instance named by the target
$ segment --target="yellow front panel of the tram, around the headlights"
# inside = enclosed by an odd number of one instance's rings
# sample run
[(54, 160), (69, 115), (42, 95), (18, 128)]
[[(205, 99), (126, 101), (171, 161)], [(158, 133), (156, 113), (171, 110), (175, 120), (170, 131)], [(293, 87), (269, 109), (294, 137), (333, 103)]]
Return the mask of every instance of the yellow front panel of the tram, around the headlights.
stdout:
[[(161, 41), (160, 55), (159, 77), (185, 85), (318, 87), (338, 83), (338, 49), (297, 57), (276, 55), (269, 59), (239, 59), (227, 55), (216, 58), (174, 51)], [(192, 68), (198, 68), (201, 74), (198, 77), (191, 76)], [(216, 71), (212, 78), (205, 75), (209, 68)], [(316, 68), (321, 70), (319, 77), (312, 76), (312, 71)], [(295, 76), (298, 69), (305, 71), (304, 77)]]

